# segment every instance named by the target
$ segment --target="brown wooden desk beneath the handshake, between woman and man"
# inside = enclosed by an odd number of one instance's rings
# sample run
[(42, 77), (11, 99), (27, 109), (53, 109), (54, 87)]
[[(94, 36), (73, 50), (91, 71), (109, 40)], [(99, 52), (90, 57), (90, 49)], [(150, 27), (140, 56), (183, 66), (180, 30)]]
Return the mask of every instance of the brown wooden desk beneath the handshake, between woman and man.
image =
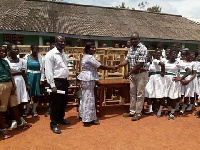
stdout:
[(105, 100), (105, 88), (120, 88), (121, 92), (123, 93), (121, 96), (123, 97), (123, 95), (127, 96), (128, 93), (128, 98), (129, 98), (129, 80), (127, 79), (102, 79), (97, 81), (97, 86), (99, 88), (99, 117), (102, 116), (102, 103)]

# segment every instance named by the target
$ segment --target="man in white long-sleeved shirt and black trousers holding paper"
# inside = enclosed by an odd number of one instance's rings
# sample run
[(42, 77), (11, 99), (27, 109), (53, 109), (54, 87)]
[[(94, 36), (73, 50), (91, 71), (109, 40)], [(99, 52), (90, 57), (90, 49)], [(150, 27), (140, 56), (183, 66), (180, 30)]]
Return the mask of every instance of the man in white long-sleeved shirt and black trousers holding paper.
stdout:
[[(67, 105), (67, 91), (69, 69), (64, 54), (65, 38), (56, 36), (55, 47), (45, 56), (45, 74), (52, 92), (50, 94), (50, 127), (54, 133), (61, 134), (57, 124), (70, 124), (64, 120), (65, 107)], [(57, 90), (65, 91), (65, 94), (58, 94)]]

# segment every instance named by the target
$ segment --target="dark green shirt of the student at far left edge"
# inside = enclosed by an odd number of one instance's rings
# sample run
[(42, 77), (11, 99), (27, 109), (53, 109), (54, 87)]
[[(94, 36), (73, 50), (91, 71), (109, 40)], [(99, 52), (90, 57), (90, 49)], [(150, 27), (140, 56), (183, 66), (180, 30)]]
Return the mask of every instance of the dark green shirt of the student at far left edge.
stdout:
[(10, 79), (10, 66), (5, 59), (0, 59), (0, 82), (7, 82)]

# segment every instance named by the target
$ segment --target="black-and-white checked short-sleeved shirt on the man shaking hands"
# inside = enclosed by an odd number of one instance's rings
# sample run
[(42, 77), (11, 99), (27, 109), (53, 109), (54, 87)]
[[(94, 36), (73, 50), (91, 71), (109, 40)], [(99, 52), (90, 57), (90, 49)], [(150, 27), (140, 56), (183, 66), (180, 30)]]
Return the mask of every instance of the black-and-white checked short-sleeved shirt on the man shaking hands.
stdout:
[(132, 70), (138, 62), (144, 62), (142, 69), (147, 70), (147, 48), (142, 43), (139, 43), (136, 47), (132, 46), (125, 60), (130, 64), (130, 70)]

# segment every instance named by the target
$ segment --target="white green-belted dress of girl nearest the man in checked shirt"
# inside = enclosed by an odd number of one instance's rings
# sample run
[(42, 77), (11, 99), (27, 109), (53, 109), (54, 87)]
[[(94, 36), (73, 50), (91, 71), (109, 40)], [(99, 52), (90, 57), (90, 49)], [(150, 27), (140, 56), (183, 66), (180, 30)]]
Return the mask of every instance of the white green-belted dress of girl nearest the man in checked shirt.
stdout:
[(154, 59), (149, 66), (149, 82), (145, 91), (148, 98), (163, 98), (165, 96), (165, 79), (161, 76), (161, 66), (158, 65), (160, 60)]

